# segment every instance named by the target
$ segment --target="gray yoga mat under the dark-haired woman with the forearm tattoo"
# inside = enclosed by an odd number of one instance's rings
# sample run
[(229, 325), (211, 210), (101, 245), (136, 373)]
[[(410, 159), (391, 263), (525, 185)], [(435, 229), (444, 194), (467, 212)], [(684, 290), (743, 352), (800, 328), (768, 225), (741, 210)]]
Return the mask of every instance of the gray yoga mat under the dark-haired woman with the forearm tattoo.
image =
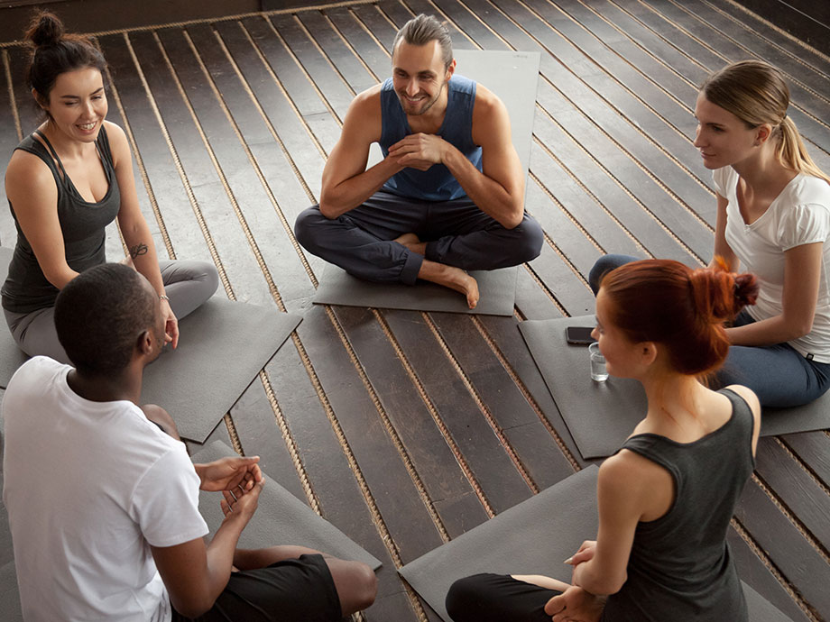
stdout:
[[(11, 258), (12, 250), (0, 247), (0, 283)], [(183, 438), (204, 443), (301, 319), (212, 297), (181, 320), (179, 347), (168, 346), (144, 370), (143, 403), (164, 407)], [(0, 326), (0, 388), (27, 358)]]

